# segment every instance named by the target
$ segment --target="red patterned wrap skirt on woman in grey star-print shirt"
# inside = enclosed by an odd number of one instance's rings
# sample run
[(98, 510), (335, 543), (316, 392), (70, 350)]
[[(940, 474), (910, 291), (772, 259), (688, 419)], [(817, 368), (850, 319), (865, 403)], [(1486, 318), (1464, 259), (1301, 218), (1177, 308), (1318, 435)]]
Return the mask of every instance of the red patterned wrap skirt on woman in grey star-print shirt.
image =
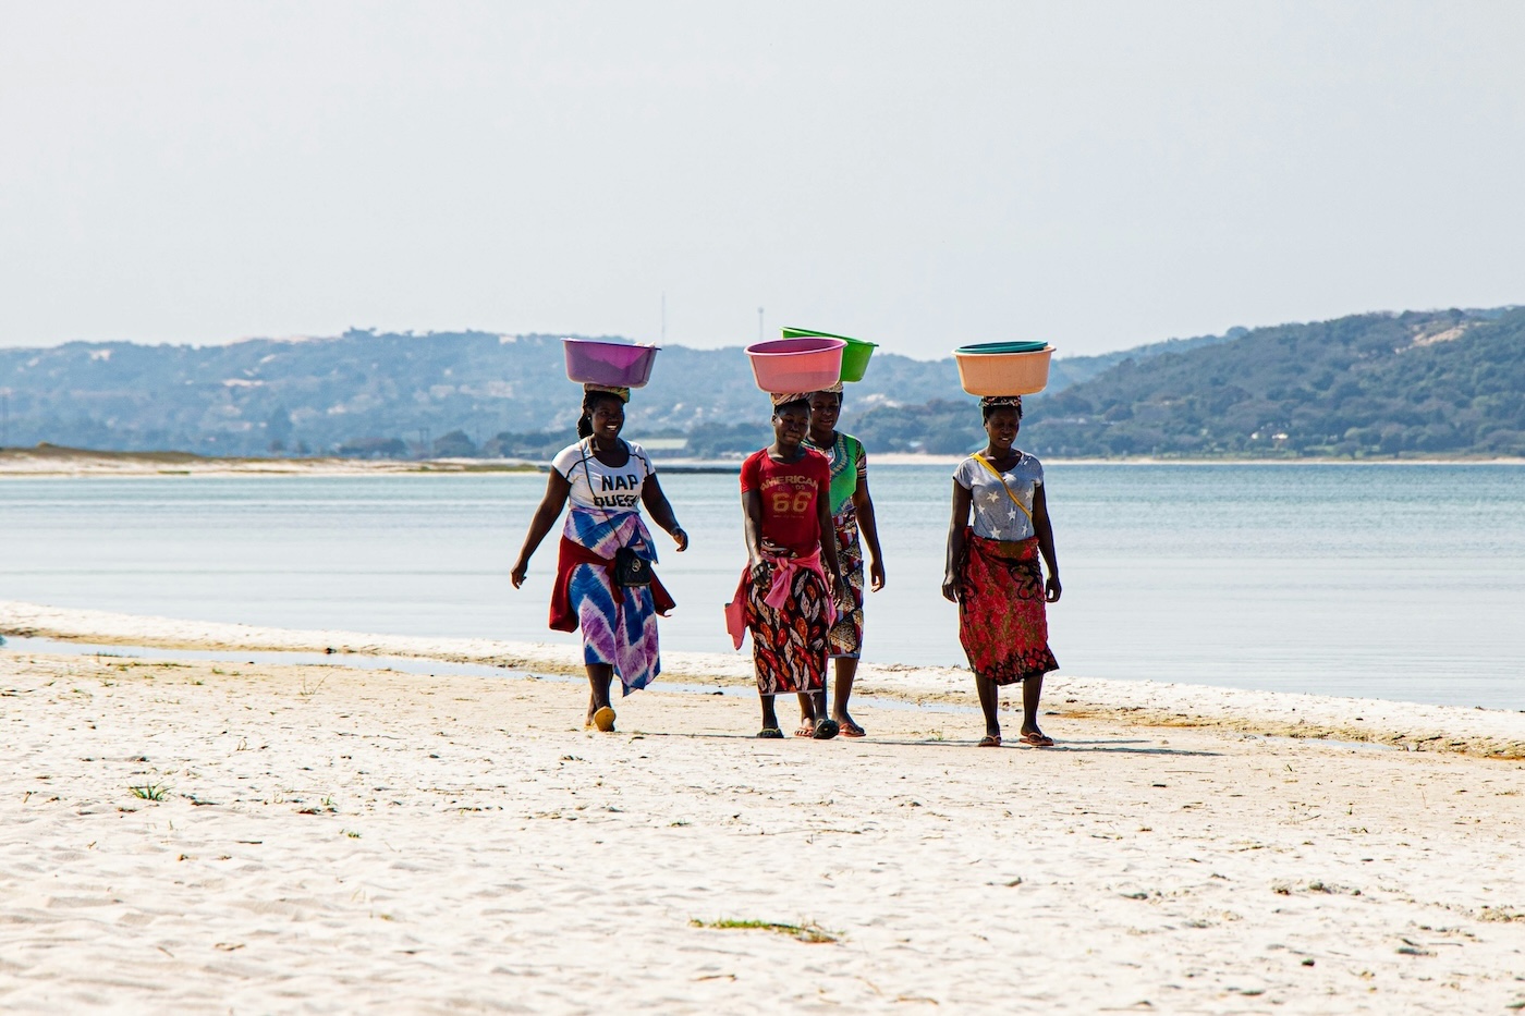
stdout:
[(1048, 647), (1039, 540), (1011, 543), (964, 531), (958, 638), (968, 667), (997, 685), (1058, 670)]

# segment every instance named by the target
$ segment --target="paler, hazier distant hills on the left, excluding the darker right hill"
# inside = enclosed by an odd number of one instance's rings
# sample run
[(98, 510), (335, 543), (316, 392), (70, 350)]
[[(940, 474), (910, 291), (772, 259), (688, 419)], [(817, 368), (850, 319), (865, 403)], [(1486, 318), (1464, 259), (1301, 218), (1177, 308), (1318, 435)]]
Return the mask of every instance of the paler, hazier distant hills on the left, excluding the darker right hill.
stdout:
[[(1138, 351), (1168, 348), (1157, 343)], [(1107, 357), (1060, 360), (1090, 377)], [(1066, 368), (1072, 365), (1072, 368)], [(845, 410), (962, 397), (952, 358), (880, 351)], [(508, 453), (566, 444), (581, 392), (554, 336), (488, 333), (255, 339), (226, 346), (69, 343), (0, 349), (0, 444), (361, 456)], [(767, 403), (740, 349), (663, 349), (633, 433), (692, 435), (697, 453), (756, 447)]]

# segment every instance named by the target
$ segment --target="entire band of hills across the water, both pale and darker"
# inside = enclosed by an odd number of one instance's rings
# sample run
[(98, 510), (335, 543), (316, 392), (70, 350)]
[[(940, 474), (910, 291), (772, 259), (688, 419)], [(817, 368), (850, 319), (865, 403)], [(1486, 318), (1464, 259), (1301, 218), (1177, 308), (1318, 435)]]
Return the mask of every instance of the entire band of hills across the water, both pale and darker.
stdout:
[[(1049, 455), (1522, 455), (1522, 314), (1365, 314), (1054, 362), (1025, 442)], [(0, 349), (0, 444), (203, 455), (543, 458), (580, 389), (552, 336), (255, 339)], [(952, 358), (877, 352), (843, 426), (884, 452), (981, 439)], [(663, 349), (630, 430), (683, 455), (750, 450), (767, 401), (740, 349)]]

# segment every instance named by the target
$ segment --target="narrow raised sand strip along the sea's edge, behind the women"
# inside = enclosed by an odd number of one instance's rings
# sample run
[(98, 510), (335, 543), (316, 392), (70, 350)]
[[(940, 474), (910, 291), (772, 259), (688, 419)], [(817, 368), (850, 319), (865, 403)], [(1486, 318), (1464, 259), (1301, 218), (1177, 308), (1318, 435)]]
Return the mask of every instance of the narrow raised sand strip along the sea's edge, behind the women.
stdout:
[[(0, 635), (145, 650), (320, 653), (332, 656), (334, 662), (348, 654), (393, 656), (543, 674), (584, 673), (575, 645), (270, 629), (17, 601), (0, 601)], [(749, 688), (752, 680), (750, 654), (746, 650), (735, 654), (663, 653), (660, 683), (708, 690)], [(865, 664), (856, 690), (865, 697), (878, 696), (913, 705), (974, 702), (973, 680), (962, 667)], [(1003, 705), (1014, 702), (1011, 694), (1003, 699)], [(1057, 723), (1068, 719), (1127, 722), (1145, 728), (1199, 728), (1243, 735), (1385, 744), (1411, 752), (1525, 758), (1525, 712), (1476, 706), (1055, 674), (1045, 682), (1045, 711)]]

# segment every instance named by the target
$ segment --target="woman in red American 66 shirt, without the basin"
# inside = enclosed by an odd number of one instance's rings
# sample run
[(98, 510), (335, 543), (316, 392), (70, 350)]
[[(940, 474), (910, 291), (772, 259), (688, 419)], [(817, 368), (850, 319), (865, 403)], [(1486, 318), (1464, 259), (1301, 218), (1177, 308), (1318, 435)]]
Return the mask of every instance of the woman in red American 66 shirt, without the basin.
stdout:
[(741, 464), (747, 567), (726, 607), (726, 627), (737, 648), (752, 633), (764, 738), (784, 737), (773, 697), (791, 691), (808, 696), (811, 737), (837, 735), (827, 715), (827, 636), (836, 601), (851, 600), (827, 511), (831, 467), (804, 447), (808, 430), (805, 394), (773, 395), (773, 444)]

